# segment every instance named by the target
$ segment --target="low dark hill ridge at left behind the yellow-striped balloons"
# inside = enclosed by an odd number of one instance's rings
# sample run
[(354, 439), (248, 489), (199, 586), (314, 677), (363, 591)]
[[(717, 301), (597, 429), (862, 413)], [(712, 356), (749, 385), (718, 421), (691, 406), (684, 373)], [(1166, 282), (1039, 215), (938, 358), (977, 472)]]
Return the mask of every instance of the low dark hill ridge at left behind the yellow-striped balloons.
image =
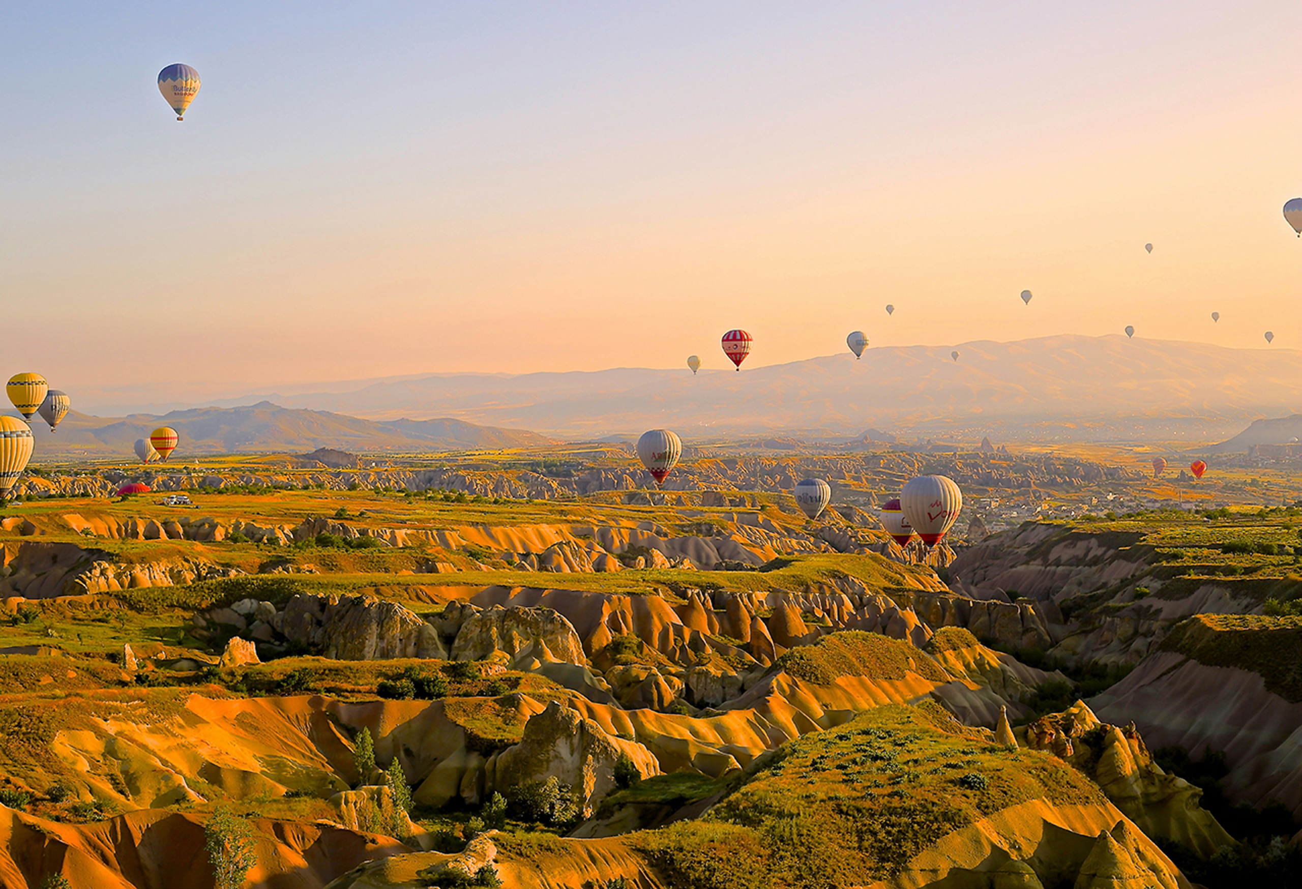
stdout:
[(523, 430), (475, 426), (458, 419), (367, 420), (319, 410), (289, 409), (263, 401), (245, 407), (197, 407), (160, 417), (122, 418), (69, 413), (59, 431), (33, 418), (36, 459), (132, 454), (137, 439), (159, 426), (181, 436), (177, 456), (240, 452), (342, 450), (435, 452), (530, 448), (555, 440)]

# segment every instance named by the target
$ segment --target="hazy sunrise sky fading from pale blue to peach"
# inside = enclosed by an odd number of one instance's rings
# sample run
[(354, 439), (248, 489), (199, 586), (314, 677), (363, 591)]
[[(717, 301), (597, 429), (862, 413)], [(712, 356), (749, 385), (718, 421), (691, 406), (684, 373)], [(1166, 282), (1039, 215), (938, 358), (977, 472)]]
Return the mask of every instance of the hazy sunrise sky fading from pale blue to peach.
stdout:
[(1299, 36), (1282, 0), (7, 4), (0, 371), (1302, 348)]

